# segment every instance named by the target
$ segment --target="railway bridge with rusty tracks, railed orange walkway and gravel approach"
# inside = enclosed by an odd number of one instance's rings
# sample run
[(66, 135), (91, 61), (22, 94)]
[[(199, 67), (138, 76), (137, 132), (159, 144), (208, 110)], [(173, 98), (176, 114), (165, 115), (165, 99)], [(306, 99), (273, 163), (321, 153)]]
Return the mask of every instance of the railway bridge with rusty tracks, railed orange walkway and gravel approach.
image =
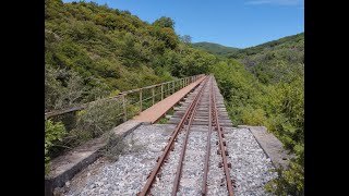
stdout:
[[(177, 83), (120, 94), (123, 123), (111, 130), (123, 138), (118, 160), (100, 156), (105, 137), (77, 147), (52, 160), (46, 195), (267, 195), (274, 169), (290, 159), (281, 143), (262, 126), (234, 127), (213, 75)], [(128, 119), (125, 95), (134, 91), (140, 111)]]

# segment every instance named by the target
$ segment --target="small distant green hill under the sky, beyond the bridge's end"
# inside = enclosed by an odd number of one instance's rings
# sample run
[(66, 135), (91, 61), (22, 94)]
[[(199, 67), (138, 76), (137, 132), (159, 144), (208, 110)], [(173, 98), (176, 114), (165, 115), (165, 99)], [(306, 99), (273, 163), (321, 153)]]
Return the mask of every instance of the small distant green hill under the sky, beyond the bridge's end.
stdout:
[(192, 46), (194, 48), (200, 48), (204, 51), (213, 53), (217, 57), (229, 57), (239, 50), (239, 48), (226, 47), (226, 46), (221, 46), (218, 44), (206, 42), (206, 41), (194, 42), (194, 44), (192, 44)]

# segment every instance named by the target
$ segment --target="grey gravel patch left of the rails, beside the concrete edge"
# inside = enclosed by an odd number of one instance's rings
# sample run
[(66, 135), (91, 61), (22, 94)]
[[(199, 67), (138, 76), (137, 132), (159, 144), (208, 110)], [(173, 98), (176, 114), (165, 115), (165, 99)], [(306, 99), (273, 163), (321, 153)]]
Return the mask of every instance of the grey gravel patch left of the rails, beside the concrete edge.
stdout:
[(65, 186), (57, 188), (57, 195), (136, 195), (173, 128), (173, 125), (140, 126), (124, 138), (125, 152), (118, 161), (104, 161), (94, 167), (94, 172), (92, 167), (86, 168), (81, 172), (85, 176), (74, 176)]

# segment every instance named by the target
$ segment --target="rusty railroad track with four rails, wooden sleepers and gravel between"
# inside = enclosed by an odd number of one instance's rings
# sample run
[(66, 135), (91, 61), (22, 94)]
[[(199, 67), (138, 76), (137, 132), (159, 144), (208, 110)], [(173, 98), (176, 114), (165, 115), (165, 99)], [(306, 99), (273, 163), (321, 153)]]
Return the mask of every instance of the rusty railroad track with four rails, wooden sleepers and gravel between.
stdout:
[(213, 76), (189, 96), (170, 123), (176, 130), (139, 195), (233, 195), (221, 110)]

